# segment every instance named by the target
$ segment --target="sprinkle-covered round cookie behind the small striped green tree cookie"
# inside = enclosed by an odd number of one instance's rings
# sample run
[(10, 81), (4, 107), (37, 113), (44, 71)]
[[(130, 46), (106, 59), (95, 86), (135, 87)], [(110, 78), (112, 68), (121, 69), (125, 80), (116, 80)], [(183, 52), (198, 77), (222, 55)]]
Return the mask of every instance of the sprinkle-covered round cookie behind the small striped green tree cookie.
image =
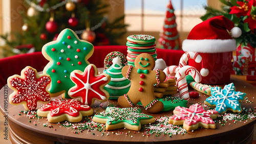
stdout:
[(113, 65), (113, 59), (115, 57), (118, 57), (121, 60), (121, 65), (127, 66), (127, 60), (125, 58), (125, 55), (119, 51), (113, 51), (110, 52), (108, 55), (106, 55), (105, 59), (104, 59), (104, 68), (105, 70), (110, 68)]

